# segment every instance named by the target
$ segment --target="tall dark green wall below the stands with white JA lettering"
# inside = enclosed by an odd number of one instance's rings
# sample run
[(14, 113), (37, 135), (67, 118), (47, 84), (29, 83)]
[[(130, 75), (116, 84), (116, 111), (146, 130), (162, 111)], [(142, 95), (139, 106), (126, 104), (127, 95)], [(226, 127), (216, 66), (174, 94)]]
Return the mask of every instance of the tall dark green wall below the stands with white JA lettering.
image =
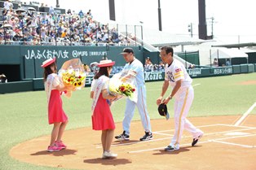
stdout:
[[(115, 66), (124, 66), (126, 61), (121, 51), (126, 46), (0, 46), (0, 74), (4, 73), (8, 81), (24, 81), (42, 78), (41, 64), (50, 57), (56, 57), (57, 66), (68, 59), (81, 59), (82, 63), (99, 62), (107, 57), (116, 62)], [(143, 48), (132, 46), (135, 56), (143, 59)], [(157, 56), (157, 54), (155, 54)]]

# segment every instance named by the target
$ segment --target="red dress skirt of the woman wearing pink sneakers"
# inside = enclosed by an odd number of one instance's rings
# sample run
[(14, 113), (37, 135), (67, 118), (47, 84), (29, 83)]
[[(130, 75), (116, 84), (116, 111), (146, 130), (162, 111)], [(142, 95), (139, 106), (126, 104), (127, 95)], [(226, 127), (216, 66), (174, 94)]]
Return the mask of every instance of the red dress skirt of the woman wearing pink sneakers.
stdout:
[(48, 104), (48, 120), (49, 124), (65, 122), (68, 120), (68, 117), (62, 108), (62, 99), (58, 89), (51, 90), (51, 97)]

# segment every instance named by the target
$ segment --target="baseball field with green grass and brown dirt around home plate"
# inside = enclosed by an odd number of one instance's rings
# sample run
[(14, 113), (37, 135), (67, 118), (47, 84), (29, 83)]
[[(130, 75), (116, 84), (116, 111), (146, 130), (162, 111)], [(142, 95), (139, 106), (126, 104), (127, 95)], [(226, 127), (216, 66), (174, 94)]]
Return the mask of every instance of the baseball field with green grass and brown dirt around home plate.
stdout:
[[(205, 134), (192, 147), (192, 137), (184, 131), (180, 150), (172, 152), (163, 149), (174, 133), (173, 101), (168, 105), (171, 118), (165, 120), (156, 104), (161, 85), (146, 83), (154, 139), (139, 142), (144, 132), (136, 110), (130, 141), (113, 141), (117, 159), (101, 159), (100, 132), (91, 129), (90, 88), (63, 98), (69, 118), (63, 140), (68, 148), (54, 153), (46, 151), (52, 126), (47, 123), (45, 92), (0, 94), (0, 169), (255, 169), (256, 73), (194, 78), (188, 119)], [(112, 107), (116, 135), (122, 132), (124, 107), (125, 99)]]

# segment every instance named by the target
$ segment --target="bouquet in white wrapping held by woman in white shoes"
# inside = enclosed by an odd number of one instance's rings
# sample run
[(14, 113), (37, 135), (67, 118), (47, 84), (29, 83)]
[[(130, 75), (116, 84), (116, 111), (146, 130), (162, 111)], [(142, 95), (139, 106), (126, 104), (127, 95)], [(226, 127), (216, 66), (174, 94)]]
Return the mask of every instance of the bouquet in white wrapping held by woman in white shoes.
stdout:
[(114, 96), (119, 95), (116, 100), (125, 96), (130, 98), (131, 101), (137, 102), (137, 90), (134, 78), (130, 78), (129, 80), (121, 81), (121, 74), (117, 73), (112, 76), (109, 80), (108, 92)]

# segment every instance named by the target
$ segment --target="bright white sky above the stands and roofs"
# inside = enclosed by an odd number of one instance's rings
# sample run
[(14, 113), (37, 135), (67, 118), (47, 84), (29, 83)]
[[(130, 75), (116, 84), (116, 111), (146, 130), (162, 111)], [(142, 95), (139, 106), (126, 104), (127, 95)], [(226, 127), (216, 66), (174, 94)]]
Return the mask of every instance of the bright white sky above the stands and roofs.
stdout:
[[(29, 0), (23, 0), (29, 2)], [(55, 7), (55, 0), (38, 0)], [(72, 3), (71, 3), (72, 2)], [(160, 0), (162, 31), (187, 35), (192, 24), (193, 37), (198, 37), (198, 0)], [(108, 0), (59, 0), (60, 8), (72, 11), (89, 9), (95, 20), (109, 23)], [(205, 0), (207, 34), (225, 43), (256, 41), (255, 0)], [(158, 0), (115, 0), (118, 24), (140, 25), (158, 29)], [(211, 18), (214, 18), (212, 24)], [(212, 30), (213, 28), (213, 30)]]

